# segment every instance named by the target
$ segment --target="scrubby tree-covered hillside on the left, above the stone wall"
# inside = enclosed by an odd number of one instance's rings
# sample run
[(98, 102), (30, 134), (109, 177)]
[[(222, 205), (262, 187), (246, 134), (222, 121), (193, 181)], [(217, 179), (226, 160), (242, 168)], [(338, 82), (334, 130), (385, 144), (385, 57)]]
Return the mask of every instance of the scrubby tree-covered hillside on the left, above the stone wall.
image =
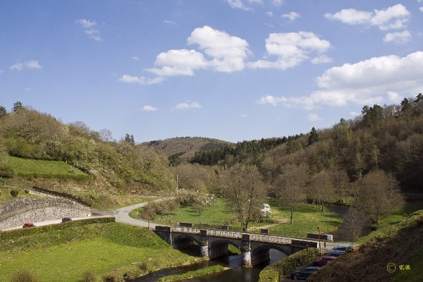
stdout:
[[(132, 135), (112, 140), (109, 130), (90, 130), (83, 122), (63, 124), (17, 102), (0, 109), (0, 176), (13, 178), (7, 156), (64, 161), (84, 171), (79, 185), (109, 192), (168, 190), (173, 175), (164, 154), (135, 145)], [(40, 181), (40, 180), (39, 180)]]

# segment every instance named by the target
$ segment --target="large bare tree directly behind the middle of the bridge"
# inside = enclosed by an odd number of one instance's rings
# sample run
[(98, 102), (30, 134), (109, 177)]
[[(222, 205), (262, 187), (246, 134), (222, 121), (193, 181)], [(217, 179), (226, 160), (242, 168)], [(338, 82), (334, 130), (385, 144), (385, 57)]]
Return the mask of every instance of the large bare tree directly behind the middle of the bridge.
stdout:
[(238, 215), (243, 231), (259, 214), (266, 198), (266, 186), (256, 166), (238, 164), (219, 176), (219, 185), (226, 191), (228, 210)]

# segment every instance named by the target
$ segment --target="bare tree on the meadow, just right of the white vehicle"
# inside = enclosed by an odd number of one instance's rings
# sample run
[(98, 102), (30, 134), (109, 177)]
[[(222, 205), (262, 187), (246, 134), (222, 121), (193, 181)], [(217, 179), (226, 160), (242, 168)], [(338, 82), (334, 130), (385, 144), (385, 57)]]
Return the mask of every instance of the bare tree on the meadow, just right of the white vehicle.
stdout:
[(294, 210), (305, 200), (304, 189), (308, 178), (307, 166), (288, 164), (283, 166), (282, 174), (276, 180), (276, 195), (279, 202), (288, 207), (291, 224)]

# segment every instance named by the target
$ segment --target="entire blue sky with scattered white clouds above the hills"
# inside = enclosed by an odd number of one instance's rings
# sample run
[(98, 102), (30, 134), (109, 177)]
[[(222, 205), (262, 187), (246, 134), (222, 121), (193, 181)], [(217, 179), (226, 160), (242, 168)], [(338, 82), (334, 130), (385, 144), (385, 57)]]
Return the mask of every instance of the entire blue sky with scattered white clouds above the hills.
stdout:
[(135, 142), (307, 133), (423, 91), (423, 0), (1, 1), (0, 105)]

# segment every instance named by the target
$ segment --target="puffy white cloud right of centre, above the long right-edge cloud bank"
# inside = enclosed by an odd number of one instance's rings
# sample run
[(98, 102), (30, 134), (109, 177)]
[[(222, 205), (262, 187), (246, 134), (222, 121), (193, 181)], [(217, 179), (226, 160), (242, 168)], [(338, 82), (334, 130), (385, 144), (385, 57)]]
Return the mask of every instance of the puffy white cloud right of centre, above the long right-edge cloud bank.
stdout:
[[(266, 39), (266, 51), (269, 56), (276, 56), (274, 61), (259, 60), (250, 63), (252, 68), (278, 68), (285, 70), (298, 66), (309, 56), (319, 57), (331, 48), (331, 43), (319, 39), (313, 32), (271, 33)], [(325, 57), (321, 57), (323, 59)], [(328, 58), (324, 59), (328, 61)], [(318, 61), (315, 61), (318, 62)]]

